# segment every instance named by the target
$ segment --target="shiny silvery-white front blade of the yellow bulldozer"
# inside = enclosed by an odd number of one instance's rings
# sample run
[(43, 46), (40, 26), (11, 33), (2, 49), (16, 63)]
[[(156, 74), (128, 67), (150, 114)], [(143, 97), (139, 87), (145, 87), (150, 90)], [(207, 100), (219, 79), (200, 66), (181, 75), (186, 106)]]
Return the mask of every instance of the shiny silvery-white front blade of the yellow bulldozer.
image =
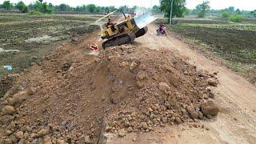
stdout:
[(134, 21), (139, 29), (142, 29), (151, 22), (154, 22), (155, 19), (156, 18), (154, 18), (154, 16), (152, 16), (150, 12), (139, 14), (134, 17)]

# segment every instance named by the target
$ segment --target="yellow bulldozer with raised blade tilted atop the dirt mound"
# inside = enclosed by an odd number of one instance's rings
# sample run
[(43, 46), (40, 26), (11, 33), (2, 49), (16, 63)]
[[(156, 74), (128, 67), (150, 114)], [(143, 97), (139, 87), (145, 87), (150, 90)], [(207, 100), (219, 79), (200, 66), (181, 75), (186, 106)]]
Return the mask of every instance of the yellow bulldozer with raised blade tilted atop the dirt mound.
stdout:
[[(109, 17), (111, 14), (114, 14), (114, 12), (103, 18)], [(121, 22), (112, 23), (110, 26), (106, 24), (100, 25), (100, 37), (104, 41), (102, 42), (103, 49), (110, 46), (120, 46), (134, 42), (135, 38), (146, 34), (148, 30), (146, 25), (154, 21), (154, 17), (152, 17), (150, 13), (136, 15), (135, 17), (132, 15), (126, 16), (123, 12), (122, 14), (124, 16), (124, 20)], [(100, 18), (96, 22), (100, 22), (103, 18)]]

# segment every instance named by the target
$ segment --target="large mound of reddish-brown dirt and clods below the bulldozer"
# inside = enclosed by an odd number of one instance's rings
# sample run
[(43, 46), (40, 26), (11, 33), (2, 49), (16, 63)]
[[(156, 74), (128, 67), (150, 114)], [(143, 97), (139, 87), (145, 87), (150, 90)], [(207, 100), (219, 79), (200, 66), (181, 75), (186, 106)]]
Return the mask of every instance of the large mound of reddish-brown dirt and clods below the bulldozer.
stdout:
[(86, 45), (62, 46), (18, 78), (25, 90), (2, 98), (0, 143), (95, 143), (102, 123), (124, 136), (218, 113), (207, 89), (216, 78), (170, 51), (126, 45), (95, 56)]

